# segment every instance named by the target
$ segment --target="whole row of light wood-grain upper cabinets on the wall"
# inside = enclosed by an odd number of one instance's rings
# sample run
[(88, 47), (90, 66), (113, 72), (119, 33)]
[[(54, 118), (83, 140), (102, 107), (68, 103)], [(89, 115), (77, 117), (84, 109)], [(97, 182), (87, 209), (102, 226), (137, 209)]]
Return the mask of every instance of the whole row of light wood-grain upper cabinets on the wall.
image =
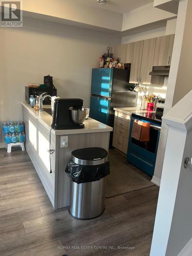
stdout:
[(162, 85), (164, 77), (151, 76), (153, 66), (168, 66), (172, 60), (175, 35), (166, 35), (111, 47), (113, 56), (131, 63), (130, 82)]

